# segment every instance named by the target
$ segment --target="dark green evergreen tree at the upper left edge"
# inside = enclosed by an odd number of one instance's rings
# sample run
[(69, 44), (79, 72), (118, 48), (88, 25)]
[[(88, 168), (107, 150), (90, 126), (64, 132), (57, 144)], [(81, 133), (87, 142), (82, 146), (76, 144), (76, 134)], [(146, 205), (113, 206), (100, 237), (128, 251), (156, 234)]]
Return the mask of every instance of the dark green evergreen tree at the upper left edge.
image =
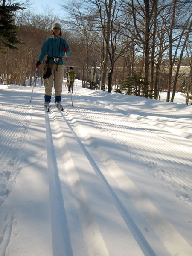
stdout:
[(20, 9), (23, 8), (18, 3), (5, 5), (5, 0), (0, 6), (0, 53), (6, 53), (6, 48), (17, 49), (15, 44), (22, 44), (17, 39), (18, 28), (14, 24), (14, 12)]

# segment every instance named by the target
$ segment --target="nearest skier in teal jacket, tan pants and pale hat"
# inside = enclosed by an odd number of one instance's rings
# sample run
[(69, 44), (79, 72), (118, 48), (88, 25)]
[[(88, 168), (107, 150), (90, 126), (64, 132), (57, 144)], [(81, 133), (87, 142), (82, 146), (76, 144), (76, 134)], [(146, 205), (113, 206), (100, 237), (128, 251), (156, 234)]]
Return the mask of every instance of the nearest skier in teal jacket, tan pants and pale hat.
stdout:
[(35, 64), (39, 68), (41, 61), (47, 54), (47, 61), (44, 67), (44, 85), (45, 85), (45, 105), (49, 105), (51, 101), (52, 87), (54, 82), (55, 102), (61, 105), (62, 83), (64, 76), (63, 56), (66, 52), (70, 53), (67, 41), (61, 38), (61, 25), (59, 23), (52, 24), (52, 38), (47, 38), (44, 42), (38, 61)]

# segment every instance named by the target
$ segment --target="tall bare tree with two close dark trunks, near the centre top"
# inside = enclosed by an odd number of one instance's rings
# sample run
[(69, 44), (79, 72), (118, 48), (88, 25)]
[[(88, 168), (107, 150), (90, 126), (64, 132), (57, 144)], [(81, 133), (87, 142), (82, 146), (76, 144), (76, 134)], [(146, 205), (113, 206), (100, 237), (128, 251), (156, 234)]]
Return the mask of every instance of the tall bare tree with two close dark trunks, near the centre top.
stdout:
[[(100, 23), (102, 27), (102, 35), (104, 38), (103, 61), (102, 61), (102, 76), (101, 89), (105, 90), (105, 81), (108, 70), (108, 58), (110, 60), (108, 72), (108, 92), (111, 92), (113, 85), (113, 71), (115, 62), (128, 48), (128, 44), (124, 44), (121, 40), (122, 27), (122, 12), (121, 2), (117, 0), (96, 0), (90, 1), (96, 5), (99, 11)], [(124, 23), (124, 21), (123, 21)]]

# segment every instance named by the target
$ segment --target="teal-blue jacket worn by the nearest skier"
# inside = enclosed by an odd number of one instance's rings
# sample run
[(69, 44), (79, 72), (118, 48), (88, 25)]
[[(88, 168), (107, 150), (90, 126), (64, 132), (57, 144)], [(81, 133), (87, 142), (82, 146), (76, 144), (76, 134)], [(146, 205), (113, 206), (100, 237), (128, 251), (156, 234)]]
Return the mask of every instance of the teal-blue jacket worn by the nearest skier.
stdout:
[(56, 64), (52, 58), (55, 57), (59, 58), (58, 65), (63, 65), (64, 62), (61, 58), (64, 56), (63, 47), (67, 47), (66, 54), (68, 55), (70, 53), (70, 49), (69, 45), (67, 44), (67, 41), (64, 38), (61, 38), (60, 36), (56, 38), (55, 35), (53, 35), (52, 38), (47, 38), (41, 48), (41, 53), (39, 55), (38, 61), (41, 63), (41, 61), (47, 54), (50, 57), (49, 61), (51, 63)]

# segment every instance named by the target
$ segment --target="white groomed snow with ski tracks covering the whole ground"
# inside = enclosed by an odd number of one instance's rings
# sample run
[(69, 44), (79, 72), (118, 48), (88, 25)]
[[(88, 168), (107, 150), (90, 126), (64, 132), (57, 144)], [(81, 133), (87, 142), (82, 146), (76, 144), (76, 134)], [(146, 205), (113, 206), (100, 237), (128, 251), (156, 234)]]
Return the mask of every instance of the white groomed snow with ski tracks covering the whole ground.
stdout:
[(191, 256), (192, 106), (0, 85), (0, 256)]

